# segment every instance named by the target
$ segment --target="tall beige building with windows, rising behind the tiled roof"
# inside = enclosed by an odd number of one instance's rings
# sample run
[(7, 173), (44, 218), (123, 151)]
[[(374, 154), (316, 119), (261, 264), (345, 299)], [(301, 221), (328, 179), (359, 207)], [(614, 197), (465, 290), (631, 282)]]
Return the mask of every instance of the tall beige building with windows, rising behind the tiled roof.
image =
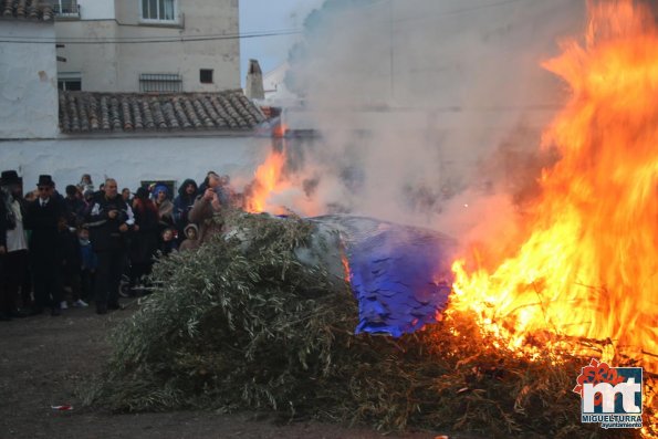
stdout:
[(61, 90), (240, 87), (238, 0), (51, 0)]

